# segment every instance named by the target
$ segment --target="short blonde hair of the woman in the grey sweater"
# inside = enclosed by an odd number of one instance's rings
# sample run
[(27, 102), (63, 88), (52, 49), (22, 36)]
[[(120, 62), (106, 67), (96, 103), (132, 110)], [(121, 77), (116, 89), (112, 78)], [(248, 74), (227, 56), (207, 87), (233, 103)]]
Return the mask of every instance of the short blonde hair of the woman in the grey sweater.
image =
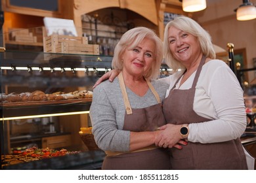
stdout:
[(117, 43), (116, 48), (114, 50), (114, 57), (112, 60), (112, 68), (123, 70), (123, 61), (122, 56), (126, 49), (135, 48), (140, 44), (140, 42), (144, 39), (148, 38), (155, 42), (155, 50), (154, 50), (154, 59), (152, 63), (152, 67), (145, 73), (144, 77), (158, 78), (160, 75), (160, 67), (163, 59), (163, 42), (156, 35), (152, 29), (148, 29), (147, 27), (135, 27), (125, 32), (120, 41)]

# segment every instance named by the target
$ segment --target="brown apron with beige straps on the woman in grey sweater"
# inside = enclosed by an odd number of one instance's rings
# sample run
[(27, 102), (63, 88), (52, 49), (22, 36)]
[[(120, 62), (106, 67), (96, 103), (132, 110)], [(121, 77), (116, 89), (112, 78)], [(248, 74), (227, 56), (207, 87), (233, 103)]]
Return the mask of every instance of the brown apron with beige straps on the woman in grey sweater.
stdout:
[[(147, 81), (148, 86), (158, 100), (158, 104), (146, 108), (131, 108), (121, 73), (118, 78), (126, 108), (123, 130), (156, 131), (158, 127), (166, 124), (160, 97), (150, 82)], [(168, 151), (156, 146), (134, 152), (106, 152), (106, 154), (102, 169), (170, 169)]]

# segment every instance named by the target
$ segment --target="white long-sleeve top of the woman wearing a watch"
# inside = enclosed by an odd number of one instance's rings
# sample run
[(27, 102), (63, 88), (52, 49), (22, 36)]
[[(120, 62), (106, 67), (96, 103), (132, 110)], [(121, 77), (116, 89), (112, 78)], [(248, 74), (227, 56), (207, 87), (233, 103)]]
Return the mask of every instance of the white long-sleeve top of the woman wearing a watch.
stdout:
[[(183, 71), (161, 79), (170, 84), (166, 97), (182, 73)], [(181, 86), (179, 82), (176, 89), (191, 88), (195, 74), (196, 72)], [(213, 59), (203, 65), (196, 84), (194, 111), (211, 121), (189, 124), (188, 141), (190, 142), (230, 141), (241, 137), (244, 133), (247, 124), (244, 92), (236, 76), (224, 61)]]

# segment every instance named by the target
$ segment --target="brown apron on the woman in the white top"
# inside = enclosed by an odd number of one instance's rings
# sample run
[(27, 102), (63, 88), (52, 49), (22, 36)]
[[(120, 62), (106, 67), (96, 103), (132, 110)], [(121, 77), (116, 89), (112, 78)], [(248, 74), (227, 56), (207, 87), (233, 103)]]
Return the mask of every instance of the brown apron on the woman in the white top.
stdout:
[[(200, 76), (205, 56), (202, 57), (192, 88), (174, 90), (163, 100), (163, 113), (169, 124), (192, 124), (210, 121), (194, 112), (193, 103), (196, 84)], [(202, 144), (188, 142), (182, 150), (171, 148), (171, 169), (247, 169), (244, 150), (240, 139)]]

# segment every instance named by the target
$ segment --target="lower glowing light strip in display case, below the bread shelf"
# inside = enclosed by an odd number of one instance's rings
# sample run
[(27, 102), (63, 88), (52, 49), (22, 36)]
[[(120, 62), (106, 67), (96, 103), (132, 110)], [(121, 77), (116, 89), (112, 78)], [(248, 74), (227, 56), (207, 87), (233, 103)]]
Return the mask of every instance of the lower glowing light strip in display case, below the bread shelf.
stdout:
[(64, 113), (56, 113), (56, 114), (39, 114), (39, 115), (32, 115), (32, 116), (15, 116), (9, 118), (0, 118), (0, 121), (5, 120), (20, 120), (20, 119), (28, 119), (28, 118), (45, 118), (51, 116), (65, 116), (65, 115), (74, 115), (74, 114), (89, 114), (89, 110), (79, 111), (79, 112), (64, 112)]

